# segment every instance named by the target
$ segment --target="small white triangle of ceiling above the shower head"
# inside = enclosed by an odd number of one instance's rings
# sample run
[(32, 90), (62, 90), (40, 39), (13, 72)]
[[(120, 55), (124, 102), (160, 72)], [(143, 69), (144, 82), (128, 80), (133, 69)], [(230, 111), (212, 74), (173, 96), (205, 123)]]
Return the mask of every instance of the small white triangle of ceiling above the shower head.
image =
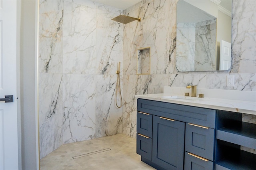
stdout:
[(91, 1), (98, 2), (100, 4), (104, 4), (107, 6), (112, 6), (120, 10), (125, 10), (130, 6), (137, 4), (141, 0), (91, 0)]

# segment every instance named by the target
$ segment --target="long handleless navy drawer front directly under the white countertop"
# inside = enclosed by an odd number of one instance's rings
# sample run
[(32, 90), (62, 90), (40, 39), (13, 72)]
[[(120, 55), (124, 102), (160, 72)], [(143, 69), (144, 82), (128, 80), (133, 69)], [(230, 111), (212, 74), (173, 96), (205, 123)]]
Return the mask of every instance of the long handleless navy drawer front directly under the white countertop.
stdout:
[(137, 110), (159, 117), (215, 128), (216, 110), (214, 109), (138, 99)]

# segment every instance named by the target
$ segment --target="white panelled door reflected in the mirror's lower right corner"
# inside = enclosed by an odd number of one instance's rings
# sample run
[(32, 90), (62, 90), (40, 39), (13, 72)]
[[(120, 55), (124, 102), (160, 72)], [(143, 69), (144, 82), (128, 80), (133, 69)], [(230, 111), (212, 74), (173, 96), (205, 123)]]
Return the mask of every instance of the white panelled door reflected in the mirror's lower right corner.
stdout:
[(231, 43), (220, 42), (220, 70), (228, 70), (231, 66)]

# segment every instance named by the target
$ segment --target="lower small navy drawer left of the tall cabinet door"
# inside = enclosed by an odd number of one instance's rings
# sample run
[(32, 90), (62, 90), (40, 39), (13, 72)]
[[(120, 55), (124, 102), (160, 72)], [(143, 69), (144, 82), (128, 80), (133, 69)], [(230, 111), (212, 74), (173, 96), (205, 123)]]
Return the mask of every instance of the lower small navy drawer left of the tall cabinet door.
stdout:
[(136, 153), (151, 161), (152, 160), (152, 138), (137, 133)]

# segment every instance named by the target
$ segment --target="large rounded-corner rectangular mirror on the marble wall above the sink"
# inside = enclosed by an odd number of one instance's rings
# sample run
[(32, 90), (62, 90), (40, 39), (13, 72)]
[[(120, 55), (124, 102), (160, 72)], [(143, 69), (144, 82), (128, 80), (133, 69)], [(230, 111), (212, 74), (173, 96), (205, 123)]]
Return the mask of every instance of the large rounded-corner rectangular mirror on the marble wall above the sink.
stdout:
[(176, 67), (180, 72), (231, 66), (232, 0), (177, 2)]

